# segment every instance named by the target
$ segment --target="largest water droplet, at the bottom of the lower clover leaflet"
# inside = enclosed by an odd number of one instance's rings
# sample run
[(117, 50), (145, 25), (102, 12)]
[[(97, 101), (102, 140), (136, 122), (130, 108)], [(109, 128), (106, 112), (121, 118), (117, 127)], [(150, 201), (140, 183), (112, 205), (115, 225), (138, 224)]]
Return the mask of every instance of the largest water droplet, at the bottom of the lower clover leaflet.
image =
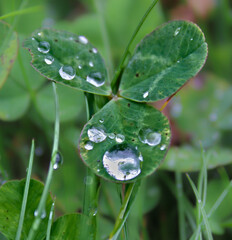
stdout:
[(116, 180), (130, 180), (141, 173), (140, 153), (128, 144), (113, 146), (103, 156), (103, 166)]

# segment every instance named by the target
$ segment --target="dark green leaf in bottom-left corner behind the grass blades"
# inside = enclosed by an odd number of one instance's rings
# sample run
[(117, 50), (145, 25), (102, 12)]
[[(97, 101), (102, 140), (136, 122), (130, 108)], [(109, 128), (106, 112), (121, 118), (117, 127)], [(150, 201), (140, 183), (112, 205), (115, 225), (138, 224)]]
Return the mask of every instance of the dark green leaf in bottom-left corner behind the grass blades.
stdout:
[[(23, 200), (24, 185), (25, 180), (9, 181), (0, 188), (0, 232), (2, 232), (8, 238), (8, 240), (15, 239)], [(30, 189), (21, 239), (27, 238), (34, 219), (34, 212), (40, 201), (42, 191), (43, 184), (32, 179), (30, 181)], [(51, 204), (52, 200), (51, 197), (49, 197), (46, 203), (47, 213), (49, 212)], [(46, 235), (47, 221), (48, 216), (42, 220), (35, 240), (41, 240)]]

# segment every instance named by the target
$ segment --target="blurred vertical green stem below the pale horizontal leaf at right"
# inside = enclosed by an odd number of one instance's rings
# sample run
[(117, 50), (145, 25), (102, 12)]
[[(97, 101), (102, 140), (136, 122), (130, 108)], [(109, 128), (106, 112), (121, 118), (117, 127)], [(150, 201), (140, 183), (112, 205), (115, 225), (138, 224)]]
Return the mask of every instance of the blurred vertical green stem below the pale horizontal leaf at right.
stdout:
[(179, 234), (180, 234), (180, 240), (185, 240), (186, 233), (185, 233), (185, 219), (184, 219), (182, 175), (180, 172), (176, 172), (175, 175), (176, 175), (176, 189), (177, 189), (177, 202), (178, 202)]

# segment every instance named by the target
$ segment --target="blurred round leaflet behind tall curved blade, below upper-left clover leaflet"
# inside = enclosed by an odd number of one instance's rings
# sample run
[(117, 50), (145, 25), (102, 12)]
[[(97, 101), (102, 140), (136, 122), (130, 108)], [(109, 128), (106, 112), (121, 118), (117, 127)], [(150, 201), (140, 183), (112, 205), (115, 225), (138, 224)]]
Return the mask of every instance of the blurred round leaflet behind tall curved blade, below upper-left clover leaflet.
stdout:
[[(60, 121), (66, 122), (74, 120), (83, 109), (83, 94), (75, 89), (57, 86), (58, 96), (60, 99)], [(51, 84), (40, 90), (36, 96), (36, 107), (38, 112), (50, 122), (55, 120), (55, 103), (52, 95)]]

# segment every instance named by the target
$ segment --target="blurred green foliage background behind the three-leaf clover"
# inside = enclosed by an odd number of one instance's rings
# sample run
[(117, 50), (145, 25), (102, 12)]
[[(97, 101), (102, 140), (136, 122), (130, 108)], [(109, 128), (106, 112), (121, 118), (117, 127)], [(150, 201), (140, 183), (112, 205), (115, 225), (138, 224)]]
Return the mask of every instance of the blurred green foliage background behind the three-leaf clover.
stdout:
[[(1, 0), (0, 16), (18, 10), (20, 3)], [(0, 184), (25, 177), (33, 138), (36, 144), (33, 178), (45, 179), (50, 160), (55, 114), (52, 87), (30, 66), (31, 57), (22, 47), (23, 40), (42, 27), (84, 35), (102, 54), (112, 74), (150, 3), (151, 0), (28, 2), (26, 8), (35, 8), (17, 16), (14, 30), (19, 36), (18, 56), (0, 89)], [(13, 24), (14, 19), (8, 17), (4, 21)], [(143, 182), (128, 221), (129, 239), (133, 240), (178, 239), (177, 203), (171, 184), (175, 184), (175, 172), (192, 172), (192, 178), (197, 179), (202, 148), (209, 169), (206, 207), (212, 206), (232, 176), (232, 2), (160, 0), (133, 46), (157, 26), (173, 19), (197, 23), (205, 33), (209, 54), (203, 70), (164, 111), (172, 126), (172, 147), (161, 169)], [(51, 192), (57, 197), (59, 216), (82, 208), (86, 168), (78, 156), (77, 145), (86, 113), (82, 92), (57, 87), (64, 164), (54, 174)], [(183, 178), (186, 195), (194, 205), (192, 190)], [(231, 203), (232, 192), (211, 218), (215, 239), (232, 239)], [(118, 186), (102, 181), (99, 221), (103, 224), (99, 224), (99, 239), (112, 230), (119, 207)], [(191, 228), (186, 228), (189, 237)]]

